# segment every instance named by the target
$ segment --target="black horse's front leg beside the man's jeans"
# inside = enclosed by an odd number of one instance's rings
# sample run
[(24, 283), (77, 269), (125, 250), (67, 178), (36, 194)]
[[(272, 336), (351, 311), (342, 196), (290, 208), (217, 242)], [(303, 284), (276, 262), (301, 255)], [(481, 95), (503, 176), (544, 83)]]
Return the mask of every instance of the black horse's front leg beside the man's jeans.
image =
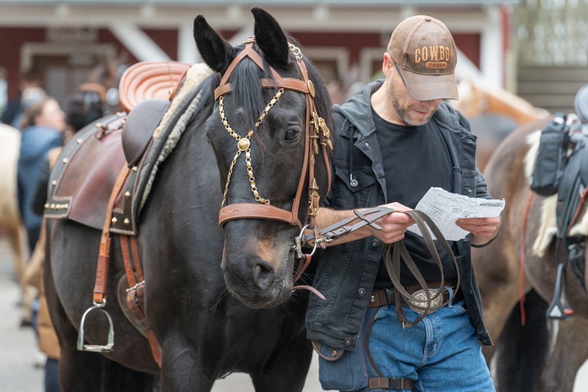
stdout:
[(300, 392), (312, 359), (310, 341), (301, 334), (279, 347), (259, 373), (251, 374), (256, 392)]

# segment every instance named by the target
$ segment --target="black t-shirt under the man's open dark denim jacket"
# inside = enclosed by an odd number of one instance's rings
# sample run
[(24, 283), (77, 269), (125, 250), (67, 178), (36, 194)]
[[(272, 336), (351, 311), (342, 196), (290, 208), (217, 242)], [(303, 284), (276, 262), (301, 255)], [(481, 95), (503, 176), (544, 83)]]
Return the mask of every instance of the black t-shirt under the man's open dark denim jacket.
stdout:
[[(372, 110), (377, 141), (382, 152), (389, 203), (399, 202), (415, 208), (432, 186), (453, 192), (453, 165), (445, 139), (433, 120), (420, 126), (402, 126), (387, 122)], [(423, 237), (406, 232), (403, 239), (410, 256), (425, 280), (440, 280), (439, 267), (425, 246)], [(456, 277), (449, 254), (437, 242), (437, 252), (443, 264), (445, 279)], [(453, 253), (455, 242), (449, 241)], [(404, 262), (400, 266), (402, 284), (417, 283)], [(383, 262), (377, 272), (375, 289), (393, 287)]]

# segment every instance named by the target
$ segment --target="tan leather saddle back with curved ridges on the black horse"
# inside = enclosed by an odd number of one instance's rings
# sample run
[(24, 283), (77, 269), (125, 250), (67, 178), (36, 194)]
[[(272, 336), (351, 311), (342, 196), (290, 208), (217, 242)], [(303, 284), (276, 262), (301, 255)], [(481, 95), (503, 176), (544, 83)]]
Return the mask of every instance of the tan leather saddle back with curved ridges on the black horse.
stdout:
[(129, 113), (146, 99), (169, 100), (190, 67), (178, 61), (143, 61), (130, 66), (119, 82), (122, 107)]

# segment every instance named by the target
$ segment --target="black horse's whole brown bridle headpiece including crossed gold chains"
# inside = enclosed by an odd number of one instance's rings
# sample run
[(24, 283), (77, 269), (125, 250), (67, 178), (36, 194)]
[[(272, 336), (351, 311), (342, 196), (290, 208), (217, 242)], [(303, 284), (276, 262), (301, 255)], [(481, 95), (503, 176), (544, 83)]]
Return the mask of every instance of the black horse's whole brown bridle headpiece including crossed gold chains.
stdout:
[[(305, 149), (304, 149), (304, 160), (302, 165), (302, 172), (300, 173), (300, 180), (298, 183), (298, 189), (296, 190), (296, 196), (292, 203), (292, 210), (285, 210), (279, 207), (270, 205), (270, 200), (259, 195), (259, 190), (255, 183), (255, 177), (253, 176), (253, 167), (251, 163), (251, 145), (250, 139), (253, 135), (253, 129), (249, 130), (246, 136), (243, 138), (233, 130), (229, 122), (225, 117), (225, 110), (223, 107), (223, 97), (232, 91), (230, 85), (229, 76), (235, 69), (236, 65), (246, 57), (249, 57), (255, 62), (260, 69), (263, 70), (263, 62), (259, 54), (253, 49), (253, 42), (255, 40), (250, 38), (246, 41), (245, 49), (241, 51), (235, 59), (230, 63), (229, 68), (226, 70), (222, 79), (220, 79), (220, 85), (215, 89), (215, 100), (219, 100), (219, 114), (223, 125), (229, 135), (236, 140), (237, 152), (235, 157), (230, 163), (229, 173), (226, 179), (225, 191), (223, 193), (223, 200), (219, 212), (219, 226), (222, 228), (226, 222), (235, 219), (274, 219), (281, 222), (289, 223), (292, 226), (298, 226), (302, 228), (302, 223), (298, 218), (298, 209), (300, 206), (300, 198), (302, 197), (302, 190), (305, 187), (305, 177), (308, 177), (308, 193), (309, 193), (309, 207), (306, 214), (306, 220), (309, 220), (310, 227), (316, 227), (315, 217), (316, 212), (319, 208), (319, 187), (315, 179), (315, 155), (319, 153), (319, 145), (322, 150), (323, 160), (325, 162), (325, 168), (328, 177), (328, 188), (330, 189), (331, 173), (329, 158), (327, 155), (327, 148), (333, 149), (332, 142), (330, 140), (330, 131), (325, 123), (325, 120), (318, 116), (315, 108), (315, 86), (312, 81), (308, 78), (308, 71), (302, 61), (302, 53), (300, 49), (289, 43), (290, 50), (296, 56), (296, 63), (300, 68), (302, 74), (302, 80), (293, 78), (282, 78), (278, 72), (275, 71), (271, 66), (269, 67), (272, 73), (273, 79), (260, 79), (262, 88), (278, 89), (276, 95), (270, 100), (268, 105), (263, 109), (259, 119), (255, 122), (255, 129), (258, 128), (262, 123), (263, 118), (268, 114), (272, 106), (280, 99), (280, 96), (285, 90), (292, 90), (306, 95), (306, 129), (305, 129)], [(257, 203), (235, 203), (232, 205), (225, 206), (226, 195), (229, 190), (230, 177), (233, 173), (233, 167), (235, 167), (239, 156), (245, 152), (245, 164), (247, 166), (247, 173), (249, 177), (249, 183), (251, 186), (251, 192)]]

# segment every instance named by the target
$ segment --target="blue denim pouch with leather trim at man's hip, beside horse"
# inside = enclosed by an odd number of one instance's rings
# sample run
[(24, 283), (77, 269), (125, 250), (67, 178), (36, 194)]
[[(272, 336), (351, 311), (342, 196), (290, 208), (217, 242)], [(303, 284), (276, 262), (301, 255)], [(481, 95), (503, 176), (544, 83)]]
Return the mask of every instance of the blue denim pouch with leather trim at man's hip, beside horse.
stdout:
[(324, 390), (356, 391), (368, 387), (363, 350), (351, 352), (313, 341), (319, 354), (319, 381)]

